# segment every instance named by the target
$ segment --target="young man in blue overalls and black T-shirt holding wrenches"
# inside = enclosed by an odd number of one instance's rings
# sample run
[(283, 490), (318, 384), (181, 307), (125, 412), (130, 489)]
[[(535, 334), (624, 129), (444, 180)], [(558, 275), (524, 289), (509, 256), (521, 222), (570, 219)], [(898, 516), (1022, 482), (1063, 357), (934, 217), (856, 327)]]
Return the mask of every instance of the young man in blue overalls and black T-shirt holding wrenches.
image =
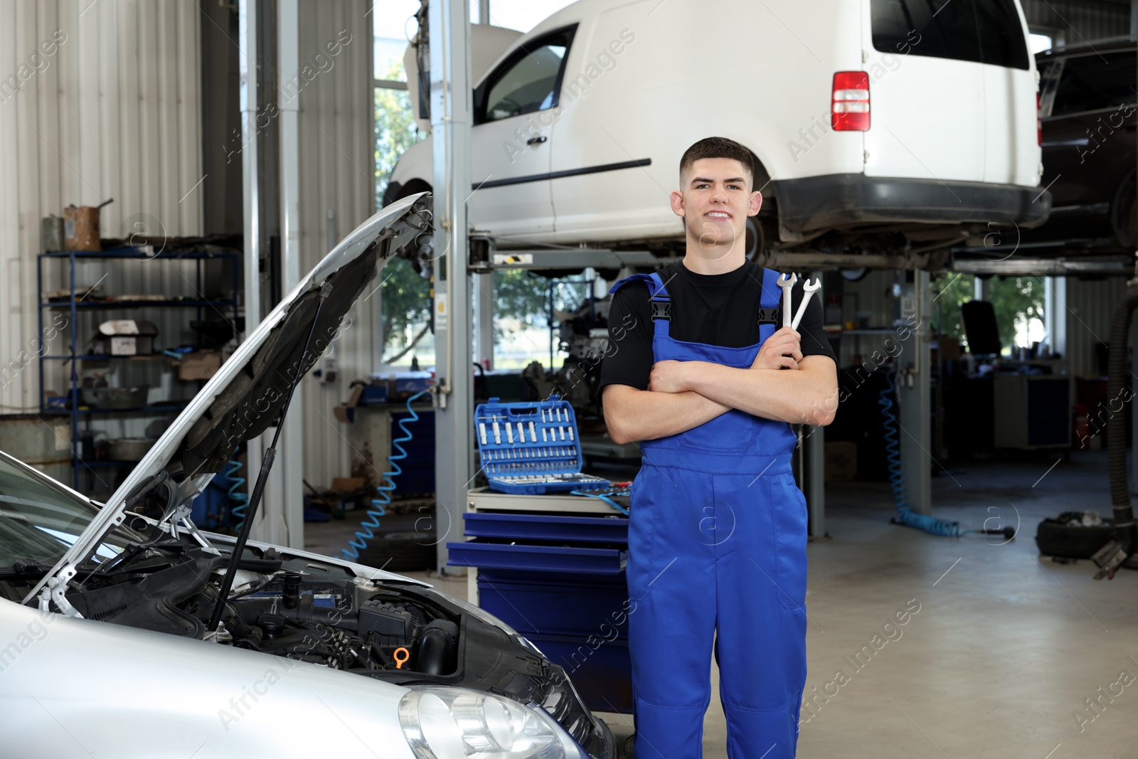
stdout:
[(702, 756), (712, 641), (727, 756), (793, 757), (798, 740), (807, 511), (790, 423), (833, 420), (838, 372), (818, 299), (798, 331), (778, 325), (778, 272), (744, 257), (762, 204), (751, 160), (725, 138), (690, 147), (671, 193), (683, 261), (610, 290), (599, 394), (612, 439), (643, 452), (627, 567), (636, 759)]

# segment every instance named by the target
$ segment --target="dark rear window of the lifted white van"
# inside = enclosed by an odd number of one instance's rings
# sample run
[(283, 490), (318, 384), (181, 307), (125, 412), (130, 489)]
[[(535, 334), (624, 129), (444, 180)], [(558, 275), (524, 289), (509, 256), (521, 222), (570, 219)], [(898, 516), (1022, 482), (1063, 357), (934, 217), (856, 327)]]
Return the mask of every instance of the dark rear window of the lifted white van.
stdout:
[(1028, 68), (1028, 44), (1012, 0), (871, 0), (881, 52)]

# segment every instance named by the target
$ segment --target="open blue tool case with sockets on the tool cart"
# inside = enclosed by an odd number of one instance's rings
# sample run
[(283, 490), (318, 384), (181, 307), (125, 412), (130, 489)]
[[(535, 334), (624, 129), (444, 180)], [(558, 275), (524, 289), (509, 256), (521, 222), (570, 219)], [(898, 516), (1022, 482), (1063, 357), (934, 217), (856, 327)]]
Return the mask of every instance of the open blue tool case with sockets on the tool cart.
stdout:
[(475, 437), (494, 490), (537, 495), (609, 487), (609, 480), (580, 472), (577, 416), (556, 395), (529, 403), (490, 398), (479, 404)]

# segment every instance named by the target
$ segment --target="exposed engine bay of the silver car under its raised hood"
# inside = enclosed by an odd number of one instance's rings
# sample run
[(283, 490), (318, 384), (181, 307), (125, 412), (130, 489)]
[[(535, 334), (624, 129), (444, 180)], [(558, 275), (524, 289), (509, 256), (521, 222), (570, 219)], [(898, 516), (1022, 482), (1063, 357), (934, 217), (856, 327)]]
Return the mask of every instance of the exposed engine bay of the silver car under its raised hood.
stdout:
[(114, 561), (81, 571), (66, 599), (86, 619), (396, 685), (452, 685), (539, 704), (592, 756), (604, 756), (605, 734), (562, 667), (462, 601), (411, 579), (370, 579), (335, 561), (248, 545), (222, 626), (207, 634), (226, 550), (150, 533)]

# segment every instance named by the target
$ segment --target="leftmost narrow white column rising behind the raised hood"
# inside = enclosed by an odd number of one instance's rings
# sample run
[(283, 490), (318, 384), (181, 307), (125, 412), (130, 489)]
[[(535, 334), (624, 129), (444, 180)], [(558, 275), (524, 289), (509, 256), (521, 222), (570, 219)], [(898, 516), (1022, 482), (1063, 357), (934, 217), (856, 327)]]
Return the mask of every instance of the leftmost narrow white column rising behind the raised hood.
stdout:
[[(261, 323), (261, 185), (257, 149), (257, 0), (240, 0), (238, 6), (239, 102), (241, 109), (241, 196), (245, 232), (245, 335)], [(264, 435), (248, 442), (246, 493), (253, 493), (261, 471)], [(262, 514), (264, 512), (262, 511)], [(259, 521), (259, 520), (258, 520)]]

